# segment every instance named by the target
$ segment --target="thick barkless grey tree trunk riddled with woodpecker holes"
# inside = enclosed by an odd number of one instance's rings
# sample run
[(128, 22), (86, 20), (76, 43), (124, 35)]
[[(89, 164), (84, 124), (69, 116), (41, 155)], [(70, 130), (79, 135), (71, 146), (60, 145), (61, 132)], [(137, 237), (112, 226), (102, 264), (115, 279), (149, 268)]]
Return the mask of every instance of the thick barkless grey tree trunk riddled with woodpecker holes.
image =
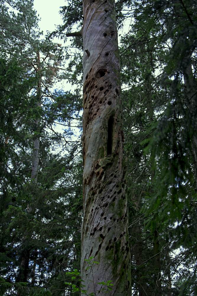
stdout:
[[(87, 294), (130, 295), (128, 212), (115, 1), (83, 1), (81, 274)], [(85, 259), (93, 257), (99, 264)], [(89, 267), (89, 268), (88, 268)]]

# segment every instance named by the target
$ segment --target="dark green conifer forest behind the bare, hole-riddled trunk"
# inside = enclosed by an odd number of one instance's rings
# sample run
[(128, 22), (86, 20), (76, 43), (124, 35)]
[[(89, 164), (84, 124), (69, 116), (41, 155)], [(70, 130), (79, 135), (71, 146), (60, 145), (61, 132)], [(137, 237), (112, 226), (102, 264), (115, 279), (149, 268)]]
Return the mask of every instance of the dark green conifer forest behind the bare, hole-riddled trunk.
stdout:
[[(0, 295), (80, 295), (82, 2), (60, 12), (43, 37), (33, 0), (0, 0)], [(197, 295), (197, 4), (116, 18), (132, 295)]]

